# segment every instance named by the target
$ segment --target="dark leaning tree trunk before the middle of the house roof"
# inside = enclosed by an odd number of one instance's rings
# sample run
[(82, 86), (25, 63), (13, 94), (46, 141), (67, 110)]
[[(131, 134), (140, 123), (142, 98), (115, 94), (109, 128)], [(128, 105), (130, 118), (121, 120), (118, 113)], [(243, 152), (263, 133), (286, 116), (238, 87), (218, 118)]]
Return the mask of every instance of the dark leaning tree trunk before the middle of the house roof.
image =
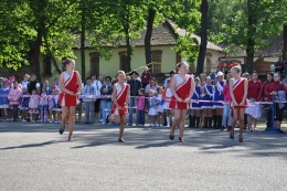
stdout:
[[(145, 50), (146, 50), (146, 64), (151, 63), (151, 49), (150, 49), (150, 40), (152, 35), (152, 25), (155, 21), (157, 11), (153, 9), (149, 9), (148, 23), (147, 23), (147, 33), (145, 36)], [(149, 67), (151, 65), (148, 65)]]

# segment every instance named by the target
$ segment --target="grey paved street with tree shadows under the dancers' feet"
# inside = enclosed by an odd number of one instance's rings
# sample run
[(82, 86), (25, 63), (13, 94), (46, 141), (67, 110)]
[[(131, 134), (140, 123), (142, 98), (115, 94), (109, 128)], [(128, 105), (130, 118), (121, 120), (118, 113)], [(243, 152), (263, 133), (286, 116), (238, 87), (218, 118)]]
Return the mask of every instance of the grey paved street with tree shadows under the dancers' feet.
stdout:
[(0, 123), (0, 190), (287, 190), (287, 134)]

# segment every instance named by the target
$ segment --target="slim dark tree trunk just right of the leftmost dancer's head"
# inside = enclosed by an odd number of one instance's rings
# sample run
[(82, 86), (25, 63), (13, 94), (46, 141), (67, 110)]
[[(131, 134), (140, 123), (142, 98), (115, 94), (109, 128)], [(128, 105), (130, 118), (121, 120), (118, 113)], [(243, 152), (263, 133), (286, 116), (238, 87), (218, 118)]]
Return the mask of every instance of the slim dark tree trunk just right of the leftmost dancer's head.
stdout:
[(82, 66), (82, 81), (86, 79), (86, 62), (85, 62), (85, 33), (86, 33), (86, 13), (85, 0), (82, 0), (82, 29), (81, 29), (81, 66)]

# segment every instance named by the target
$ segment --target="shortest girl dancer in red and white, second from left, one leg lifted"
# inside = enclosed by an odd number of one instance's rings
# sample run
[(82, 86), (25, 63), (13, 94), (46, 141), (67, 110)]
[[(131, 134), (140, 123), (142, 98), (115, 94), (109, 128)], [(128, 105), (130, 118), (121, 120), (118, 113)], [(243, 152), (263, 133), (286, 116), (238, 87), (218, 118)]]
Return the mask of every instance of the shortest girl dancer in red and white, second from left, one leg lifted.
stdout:
[(113, 98), (113, 108), (111, 116), (107, 116), (107, 121), (114, 121), (119, 124), (119, 136), (118, 141), (125, 142), (123, 139), (126, 115), (128, 114), (128, 103), (130, 95), (130, 86), (125, 83), (126, 74), (124, 71), (118, 71), (117, 73), (117, 83), (113, 87), (111, 98)]

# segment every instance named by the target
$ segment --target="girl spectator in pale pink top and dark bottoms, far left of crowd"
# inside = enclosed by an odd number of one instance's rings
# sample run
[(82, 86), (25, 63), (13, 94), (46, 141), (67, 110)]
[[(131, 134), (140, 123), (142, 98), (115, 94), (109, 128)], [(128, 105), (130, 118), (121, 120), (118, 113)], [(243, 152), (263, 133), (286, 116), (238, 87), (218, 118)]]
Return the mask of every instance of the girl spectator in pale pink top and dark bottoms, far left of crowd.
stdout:
[(13, 110), (13, 121), (18, 120), (18, 107), (19, 107), (19, 99), (22, 94), (22, 89), (18, 86), (18, 82), (14, 81), (13, 88), (10, 89), (8, 98), (10, 100), (10, 109)]

